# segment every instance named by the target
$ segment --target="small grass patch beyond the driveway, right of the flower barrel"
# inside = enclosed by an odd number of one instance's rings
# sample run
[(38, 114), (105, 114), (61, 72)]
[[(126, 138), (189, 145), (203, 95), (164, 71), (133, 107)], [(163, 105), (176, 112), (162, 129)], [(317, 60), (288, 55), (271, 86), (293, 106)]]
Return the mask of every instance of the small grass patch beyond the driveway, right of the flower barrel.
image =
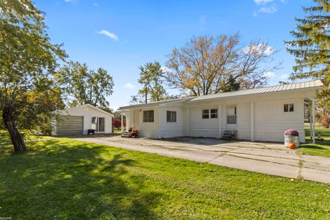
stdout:
[[(316, 142), (316, 144), (302, 144), (301, 148), (298, 149), (300, 153), (306, 155), (315, 155), (322, 157), (330, 157), (330, 129), (326, 129), (322, 126), (316, 126), (316, 138), (318, 135), (322, 137), (325, 142)], [(309, 126), (305, 127), (305, 134), (308, 138), (310, 135)]]

